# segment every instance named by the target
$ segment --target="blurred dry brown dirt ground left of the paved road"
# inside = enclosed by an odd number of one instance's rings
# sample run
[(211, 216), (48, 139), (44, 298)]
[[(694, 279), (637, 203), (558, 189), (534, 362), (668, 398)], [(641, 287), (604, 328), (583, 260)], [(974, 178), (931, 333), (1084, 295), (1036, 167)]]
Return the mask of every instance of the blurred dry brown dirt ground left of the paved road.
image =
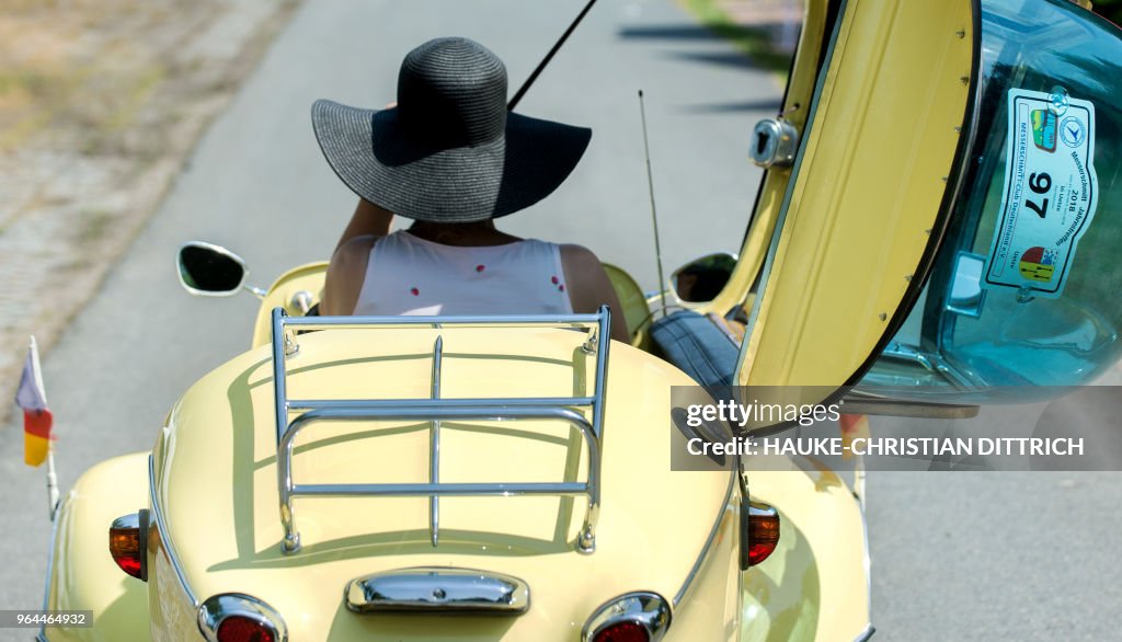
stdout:
[(0, 0), (0, 423), (298, 0)]

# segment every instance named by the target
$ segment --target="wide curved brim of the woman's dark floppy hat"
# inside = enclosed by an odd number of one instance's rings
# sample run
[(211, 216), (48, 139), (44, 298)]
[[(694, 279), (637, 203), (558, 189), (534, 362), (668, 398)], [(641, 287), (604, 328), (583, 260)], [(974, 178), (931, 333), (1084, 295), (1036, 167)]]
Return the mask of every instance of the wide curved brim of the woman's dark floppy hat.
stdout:
[(312, 106), (312, 127), (339, 178), (395, 214), (433, 222), (503, 217), (550, 195), (585, 154), (590, 129), (508, 113), (504, 136), (442, 147), (411, 137), (396, 108)]

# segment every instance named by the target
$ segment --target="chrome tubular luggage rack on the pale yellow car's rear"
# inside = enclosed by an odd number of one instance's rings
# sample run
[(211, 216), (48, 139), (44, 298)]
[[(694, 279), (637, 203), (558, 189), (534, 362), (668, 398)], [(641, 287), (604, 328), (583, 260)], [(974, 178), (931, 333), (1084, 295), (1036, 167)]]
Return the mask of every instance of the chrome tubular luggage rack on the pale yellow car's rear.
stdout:
[[(429, 497), (429, 528), (432, 545), (440, 541), (440, 497), (509, 495), (587, 495), (588, 511), (577, 538), (577, 550), (596, 550), (596, 523), (600, 507), (600, 446), (604, 438), (604, 385), (608, 364), (610, 311), (600, 306), (595, 314), (525, 317), (288, 317), (283, 308), (273, 310), (273, 385), (277, 422), (277, 481), (280, 493), (280, 523), (284, 540), (280, 550), (300, 550), (300, 532), (293, 512), (293, 498), (394, 496)], [(286, 392), (285, 358), (296, 355), (295, 329), (472, 325), (484, 328), (576, 328), (587, 331), (581, 348), (596, 356), (596, 382), (592, 396), (583, 397), (496, 397), (441, 398), (440, 372), (443, 338), (438, 334), (432, 351), (432, 396), (416, 400), (291, 400)], [(577, 367), (576, 365), (573, 367)], [(591, 411), (591, 421), (579, 409)], [(288, 421), (289, 411), (303, 414)], [(440, 422), (444, 420), (499, 421), (554, 419), (580, 430), (588, 447), (586, 481), (442, 484), (440, 481)], [(334, 421), (429, 421), (427, 484), (296, 484), (292, 478), (292, 450), (296, 435), (307, 425)]]

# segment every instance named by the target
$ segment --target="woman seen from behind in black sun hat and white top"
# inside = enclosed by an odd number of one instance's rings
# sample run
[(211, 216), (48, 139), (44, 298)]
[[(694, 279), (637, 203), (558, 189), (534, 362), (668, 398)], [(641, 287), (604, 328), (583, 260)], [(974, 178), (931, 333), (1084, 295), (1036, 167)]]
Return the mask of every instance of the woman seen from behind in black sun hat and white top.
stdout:
[[(312, 107), (328, 163), (361, 199), (328, 268), (325, 314), (565, 314), (608, 304), (597, 257), (521, 239), (494, 220), (552, 193), (591, 131), (509, 113), (506, 68), (467, 38), (438, 38), (402, 63), (397, 103)], [(393, 233), (393, 214), (413, 219)], [(375, 233), (368, 233), (375, 232)]]

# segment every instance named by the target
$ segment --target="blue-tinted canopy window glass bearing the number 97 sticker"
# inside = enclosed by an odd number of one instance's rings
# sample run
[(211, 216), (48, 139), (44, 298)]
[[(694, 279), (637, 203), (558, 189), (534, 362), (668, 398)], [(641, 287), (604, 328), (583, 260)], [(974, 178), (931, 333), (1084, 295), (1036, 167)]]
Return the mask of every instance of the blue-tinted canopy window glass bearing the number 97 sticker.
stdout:
[(1077, 385), (1122, 356), (1120, 31), (1068, 0), (981, 8), (949, 228), (863, 386)]

